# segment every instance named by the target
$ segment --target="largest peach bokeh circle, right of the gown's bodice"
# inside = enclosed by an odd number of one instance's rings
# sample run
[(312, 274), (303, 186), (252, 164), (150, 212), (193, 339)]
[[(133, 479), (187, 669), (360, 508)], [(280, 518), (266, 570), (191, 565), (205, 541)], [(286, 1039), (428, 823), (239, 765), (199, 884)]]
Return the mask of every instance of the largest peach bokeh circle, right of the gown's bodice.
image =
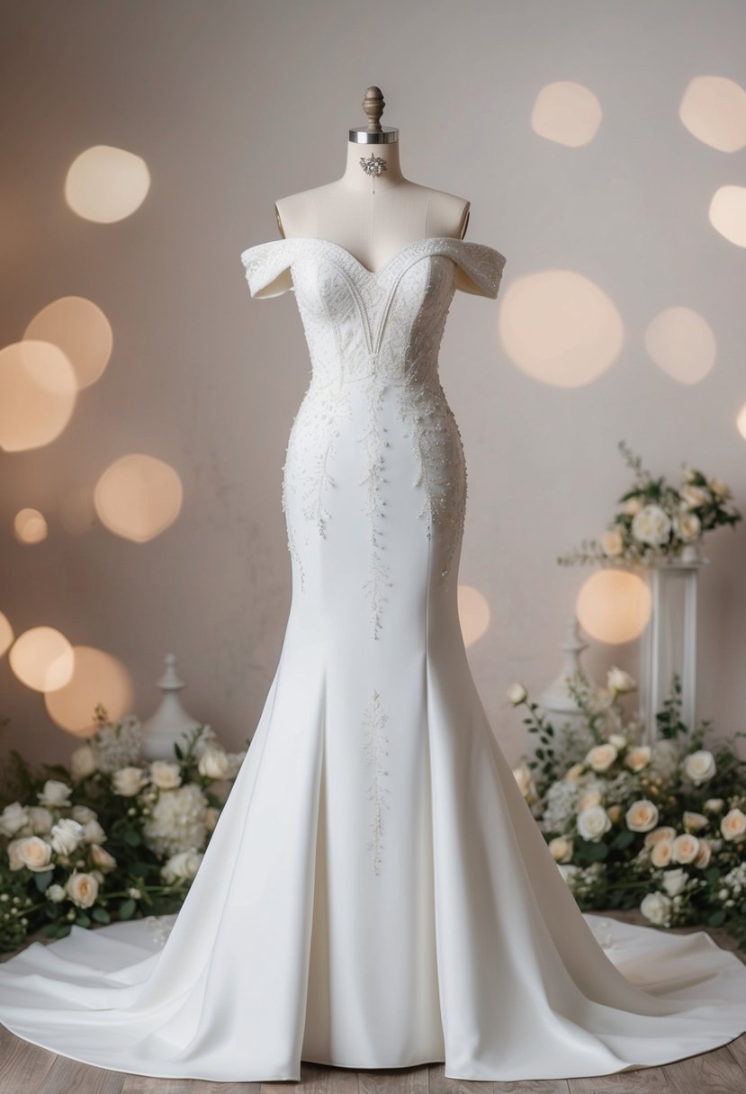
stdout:
[(522, 372), (545, 384), (579, 387), (616, 361), (623, 326), (594, 281), (549, 269), (511, 281), (500, 309), (500, 338)]

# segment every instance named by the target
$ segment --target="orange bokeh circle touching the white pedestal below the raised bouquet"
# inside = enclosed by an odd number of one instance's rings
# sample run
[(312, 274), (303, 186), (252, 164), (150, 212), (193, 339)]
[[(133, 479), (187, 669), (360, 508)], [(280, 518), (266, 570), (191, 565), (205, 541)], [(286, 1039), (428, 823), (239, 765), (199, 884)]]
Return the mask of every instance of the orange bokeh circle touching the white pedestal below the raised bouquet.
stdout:
[(605, 567), (587, 578), (578, 593), (575, 614), (584, 630), (602, 642), (638, 638), (652, 609), (649, 586), (628, 570)]

